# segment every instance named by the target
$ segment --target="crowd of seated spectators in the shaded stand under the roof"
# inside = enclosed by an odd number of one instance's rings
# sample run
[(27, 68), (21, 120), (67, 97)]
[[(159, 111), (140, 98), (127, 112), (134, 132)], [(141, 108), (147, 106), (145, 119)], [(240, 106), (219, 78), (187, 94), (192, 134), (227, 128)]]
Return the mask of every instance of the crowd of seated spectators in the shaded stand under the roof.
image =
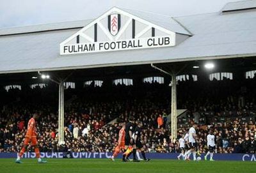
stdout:
[[(188, 126), (192, 120), (200, 123), (197, 130), (199, 150), (206, 151), (206, 136), (211, 127), (216, 135), (216, 153), (255, 153), (256, 92), (251, 83), (246, 85), (246, 91), (240, 83), (234, 84), (229, 80), (208, 85), (188, 81), (179, 82), (177, 87), (177, 106), (178, 109), (188, 110), (185, 117)], [(65, 91), (79, 96), (65, 105), (64, 145), (58, 145), (58, 109), (52, 106), (57, 105), (56, 100), (51, 104), (45, 104), (42, 100), (24, 103), (24, 95), (20, 96), (1, 110), (0, 152), (20, 150), (26, 124), (36, 111), (41, 114), (37, 126), (38, 144), (43, 152), (67, 149), (74, 152), (111, 152), (115, 148), (118, 131), (129, 116), (143, 122), (141, 139), (146, 151), (177, 152), (177, 141), (171, 141), (170, 125), (167, 123), (170, 92), (166, 93), (170, 91), (170, 87), (145, 84), (139, 89), (116, 86), (108, 89), (107, 93), (107, 89), (99, 87), (85, 89), (83, 92)], [(22, 91), (14, 92), (19, 95)], [(26, 101), (28, 100), (29, 96), (26, 96)], [(221, 121), (221, 118), (224, 120)], [(109, 124), (113, 119), (116, 119), (115, 123)], [(188, 126), (179, 126), (178, 139), (188, 131)]]

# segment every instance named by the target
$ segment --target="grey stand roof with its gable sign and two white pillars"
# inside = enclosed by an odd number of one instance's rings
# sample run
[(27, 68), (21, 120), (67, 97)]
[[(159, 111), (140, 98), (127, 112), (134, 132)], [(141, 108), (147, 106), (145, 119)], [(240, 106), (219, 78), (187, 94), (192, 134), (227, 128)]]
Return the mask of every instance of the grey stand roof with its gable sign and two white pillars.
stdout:
[[(151, 64), (172, 76), (175, 138), (179, 68), (166, 71), (161, 66), (255, 57), (256, 1), (228, 3), (216, 13), (183, 17), (114, 7), (93, 20), (0, 29), (0, 47), (0, 74)], [(60, 130), (64, 81), (56, 81), (60, 84)]]

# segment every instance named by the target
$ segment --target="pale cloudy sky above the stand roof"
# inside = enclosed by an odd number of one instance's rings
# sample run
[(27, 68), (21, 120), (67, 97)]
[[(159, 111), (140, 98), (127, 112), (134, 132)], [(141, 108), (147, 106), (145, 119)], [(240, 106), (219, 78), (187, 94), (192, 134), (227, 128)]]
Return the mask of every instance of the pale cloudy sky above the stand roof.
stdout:
[(0, 0), (0, 28), (95, 19), (113, 6), (170, 16), (220, 11), (239, 0)]

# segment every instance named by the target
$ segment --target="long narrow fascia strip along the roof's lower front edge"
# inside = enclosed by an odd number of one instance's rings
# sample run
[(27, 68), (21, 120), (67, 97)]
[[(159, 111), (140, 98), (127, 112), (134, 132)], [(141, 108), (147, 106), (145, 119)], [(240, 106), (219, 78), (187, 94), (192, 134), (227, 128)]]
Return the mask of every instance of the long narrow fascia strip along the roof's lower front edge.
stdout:
[(205, 57), (189, 57), (179, 58), (179, 59), (163, 59), (159, 61), (138, 61), (131, 63), (111, 63), (111, 64), (97, 64), (97, 65), (85, 65), (85, 66), (67, 66), (60, 68), (36, 68), (36, 69), (28, 69), (28, 70), (8, 70), (8, 71), (0, 71), (0, 74), (4, 73), (28, 73), (28, 72), (36, 72), (36, 71), (56, 71), (56, 70), (77, 70), (77, 69), (88, 69), (88, 68), (104, 68), (110, 66), (129, 66), (129, 65), (142, 65), (142, 64), (161, 64), (161, 63), (175, 63), (182, 61), (196, 61), (196, 60), (212, 60), (212, 59), (230, 59), (237, 57), (253, 57), (256, 56), (256, 53), (253, 54), (236, 54), (236, 55), (225, 55), (225, 56), (205, 56)]

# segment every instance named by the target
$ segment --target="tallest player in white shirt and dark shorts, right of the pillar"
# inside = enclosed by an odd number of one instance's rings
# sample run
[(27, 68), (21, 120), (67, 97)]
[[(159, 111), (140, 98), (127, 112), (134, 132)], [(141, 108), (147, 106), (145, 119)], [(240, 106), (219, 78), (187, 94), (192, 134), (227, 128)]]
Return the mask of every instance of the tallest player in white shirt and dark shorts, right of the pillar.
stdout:
[(188, 154), (190, 153), (193, 153), (193, 160), (196, 160), (196, 128), (196, 123), (194, 123), (193, 126), (189, 128), (188, 142), (190, 149), (184, 154), (184, 158), (186, 158), (186, 160), (189, 160)]

